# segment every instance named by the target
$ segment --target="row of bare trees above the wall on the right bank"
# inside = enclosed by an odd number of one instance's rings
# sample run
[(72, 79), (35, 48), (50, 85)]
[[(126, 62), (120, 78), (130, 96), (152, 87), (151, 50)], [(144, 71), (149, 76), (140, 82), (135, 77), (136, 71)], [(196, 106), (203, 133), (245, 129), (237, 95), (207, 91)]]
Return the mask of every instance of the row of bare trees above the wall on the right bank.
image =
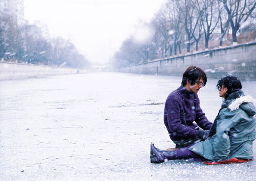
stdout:
[(134, 41), (133, 35), (127, 38), (112, 64), (121, 67), (190, 53), (191, 46), (199, 51), (199, 44), (208, 49), (211, 40), (222, 46), (229, 31), (237, 44), (241, 27), (253, 23), (255, 41), (255, 6), (254, 0), (167, 0), (152, 21), (144, 23), (152, 36), (143, 43)]

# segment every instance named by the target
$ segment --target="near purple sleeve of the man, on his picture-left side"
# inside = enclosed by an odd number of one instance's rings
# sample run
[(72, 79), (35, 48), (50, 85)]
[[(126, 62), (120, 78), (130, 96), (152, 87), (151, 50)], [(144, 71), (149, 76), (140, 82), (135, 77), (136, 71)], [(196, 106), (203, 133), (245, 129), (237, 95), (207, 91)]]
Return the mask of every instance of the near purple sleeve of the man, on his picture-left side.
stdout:
[(175, 99), (168, 99), (165, 104), (167, 122), (170, 132), (184, 138), (198, 138), (198, 130), (190, 128), (181, 121), (180, 105)]

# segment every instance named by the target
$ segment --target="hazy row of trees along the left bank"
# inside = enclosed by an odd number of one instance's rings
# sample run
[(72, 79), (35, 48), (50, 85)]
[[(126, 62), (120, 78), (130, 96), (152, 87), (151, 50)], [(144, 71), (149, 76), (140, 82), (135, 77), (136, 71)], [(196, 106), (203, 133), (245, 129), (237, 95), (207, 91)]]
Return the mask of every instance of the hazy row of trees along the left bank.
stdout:
[(73, 68), (89, 66), (89, 61), (69, 40), (50, 39), (37, 25), (18, 25), (10, 14), (1, 12), (0, 60)]

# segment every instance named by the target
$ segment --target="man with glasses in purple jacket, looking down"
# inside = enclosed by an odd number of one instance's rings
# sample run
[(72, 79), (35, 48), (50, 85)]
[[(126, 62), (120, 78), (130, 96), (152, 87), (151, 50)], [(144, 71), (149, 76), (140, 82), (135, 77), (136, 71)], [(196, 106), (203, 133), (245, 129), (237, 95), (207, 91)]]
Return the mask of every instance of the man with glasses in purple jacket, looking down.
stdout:
[(176, 148), (186, 147), (206, 139), (209, 134), (208, 130), (212, 123), (200, 108), (197, 95), (206, 82), (205, 72), (199, 67), (190, 66), (183, 73), (182, 85), (170, 93), (166, 99), (164, 124)]

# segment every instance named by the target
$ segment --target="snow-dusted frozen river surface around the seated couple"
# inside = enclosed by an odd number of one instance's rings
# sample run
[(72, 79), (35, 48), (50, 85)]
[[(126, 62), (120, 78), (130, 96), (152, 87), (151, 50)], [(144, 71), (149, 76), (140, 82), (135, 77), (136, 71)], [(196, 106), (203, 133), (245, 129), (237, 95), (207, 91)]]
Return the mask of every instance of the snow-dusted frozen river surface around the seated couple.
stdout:
[[(217, 81), (199, 91), (210, 121), (222, 102)], [(242, 83), (253, 98), (255, 83)], [(150, 163), (151, 142), (174, 147), (163, 109), (180, 84), (110, 72), (1, 81), (0, 180), (255, 180), (256, 161)]]

